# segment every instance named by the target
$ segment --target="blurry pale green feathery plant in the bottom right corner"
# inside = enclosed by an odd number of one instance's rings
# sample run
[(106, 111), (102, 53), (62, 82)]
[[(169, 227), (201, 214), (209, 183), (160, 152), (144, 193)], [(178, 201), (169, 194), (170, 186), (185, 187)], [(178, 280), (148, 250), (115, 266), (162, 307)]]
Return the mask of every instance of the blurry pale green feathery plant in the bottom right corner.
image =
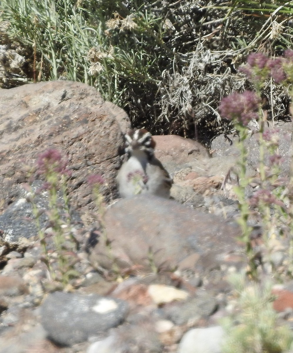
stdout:
[(235, 296), (234, 313), (222, 320), (227, 338), (222, 353), (292, 352), (293, 334), (278, 324), (269, 282), (246, 283), (246, 277), (230, 277)]

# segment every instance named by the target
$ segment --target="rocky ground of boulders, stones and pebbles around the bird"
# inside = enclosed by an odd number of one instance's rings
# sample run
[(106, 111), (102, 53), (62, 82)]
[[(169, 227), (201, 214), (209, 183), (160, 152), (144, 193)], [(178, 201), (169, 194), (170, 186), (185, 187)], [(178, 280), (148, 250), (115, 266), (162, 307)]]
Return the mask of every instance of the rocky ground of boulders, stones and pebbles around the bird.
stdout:
[[(122, 133), (130, 126), (122, 109), (104, 102), (95, 89), (66, 81), (2, 89), (0, 96), (0, 353), (220, 352), (226, 334), (219, 320), (233, 307), (228, 275), (247, 265), (237, 240), (233, 178), (221, 188), (236, 164), (237, 137), (219, 136), (207, 151), (193, 140), (155, 136), (156, 156), (174, 179), (173, 199), (122, 200), (115, 175), (123, 159)], [(292, 126), (276, 125), (286, 177)], [(257, 178), (257, 134), (247, 144), (248, 173)], [(48, 147), (67, 154), (72, 170), (69, 193), (81, 275), (67, 292), (48, 288), (23, 188), (30, 166)], [(90, 173), (105, 180), (106, 240), (97, 230), (86, 183)], [(252, 185), (247, 193), (253, 192)], [(46, 204), (43, 193), (38, 206)], [(46, 226), (45, 217), (42, 223)], [(253, 226), (257, 237), (259, 225)], [(270, 276), (271, 264), (286, 264), (285, 241), (269, 254), (260, 249), (263, 277)], [(286, 313), (284, 324), (292, 321), (292, 288), (289, 282), (275, 289), (274, 308)]]

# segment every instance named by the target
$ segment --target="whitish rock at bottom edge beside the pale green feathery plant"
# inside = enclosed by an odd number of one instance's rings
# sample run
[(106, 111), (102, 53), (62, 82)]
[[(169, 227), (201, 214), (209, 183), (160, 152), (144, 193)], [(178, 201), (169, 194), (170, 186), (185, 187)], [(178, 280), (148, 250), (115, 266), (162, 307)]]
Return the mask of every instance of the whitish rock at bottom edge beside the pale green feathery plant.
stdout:
[(223, 338), (220, 326), (192, 329), (182, 337), (178, 353), (220, 353)]

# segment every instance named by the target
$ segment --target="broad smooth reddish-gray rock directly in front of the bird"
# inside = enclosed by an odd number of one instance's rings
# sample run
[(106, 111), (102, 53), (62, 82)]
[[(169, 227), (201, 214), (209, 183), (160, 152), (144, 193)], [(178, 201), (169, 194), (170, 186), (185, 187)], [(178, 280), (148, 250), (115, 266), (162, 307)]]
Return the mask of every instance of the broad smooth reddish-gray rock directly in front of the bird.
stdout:
[(106, 237), (97, 239), (90, 261), (108, 269), (115, 262), (120, 268), (208, 270), (207, 257), (214, 266), (239, 251), (235, 223), (155, 196), (121, 199), (106, 212), (105, 225)]

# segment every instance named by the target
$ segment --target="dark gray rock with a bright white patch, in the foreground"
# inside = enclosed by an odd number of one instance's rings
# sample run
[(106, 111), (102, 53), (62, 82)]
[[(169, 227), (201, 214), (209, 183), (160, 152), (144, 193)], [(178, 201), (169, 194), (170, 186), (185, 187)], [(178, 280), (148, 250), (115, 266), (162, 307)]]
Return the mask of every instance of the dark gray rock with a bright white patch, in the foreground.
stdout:
[(120, 299), (55, 292), (41, 306), (41, 323), (49, 339), (72, 345), (117, 326), (127, 313), (128, 304)]

